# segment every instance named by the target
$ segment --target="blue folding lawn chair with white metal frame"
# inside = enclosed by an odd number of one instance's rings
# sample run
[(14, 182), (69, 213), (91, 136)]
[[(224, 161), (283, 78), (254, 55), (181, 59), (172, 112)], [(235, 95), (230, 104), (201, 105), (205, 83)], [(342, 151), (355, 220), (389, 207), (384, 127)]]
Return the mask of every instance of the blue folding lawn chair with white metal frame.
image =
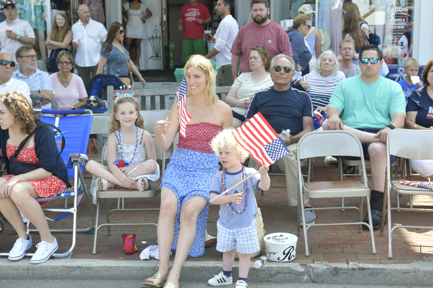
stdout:
[[(89, 141), (90, 127), (92, 125), (93, 114), (90, 110), (46, 110), (46, 109), (33, 109), (33, 111), (40, 111), (42, 113), (49, 114), (84, 114), (82, 116), (70, 116), (70, 117), (47, 117), (41, 116), (41, 120), (45, 123), (49, 123), (58, 127), (65, 137), (65, 148), (61, 153), (61, 158), (65, 161), (65, 165), (68, 168), (68, 178), (74, 178), (73, 191), (62, 193), (55, 197), (49, 198), (39, 198), (36, 199), (41, 206), (44, 207), (45, 202), (52, 202), (58, 199), (65, 199), (68, 196), (74, 197), (74, 205), (71, 208), (67, 208), (67, 201), (65, 201), (64, 208), (42, 208), (44, 212), (62, 212), (61, 215), (56, 217), (54, 221), (59, 221), (60, 219), (73, 214), (73, 224), (72, 229), (50, 229), (51, 232), (72, 232), (72, 245), (71, 248), (64, 253), (55, 253), (52, 256), (55, 258), (70, 259), (72, 251), (75, 247), (77, 232), (80, 233), (91, 233), (95, 228), (95, 214), (92, 207), (92, 202), (89, 198), (89, 193), (87, 190), (87, 185), (84, 183), (83, 178), (83, 168), (87, 161), (86, 151), (87, 143)], [(55, 134), (55, 140), (57, 147), (61, 149), (62, 136), (61, 134), (50, 127)], [(92, 224), (89, 228), (77, 229), (77, 212), (78, 203), (80, 202), (82, 196), (85, 196), (88, 207), (92, 215)], [(37, 229), (30, 229), (30, 232), (35, 232)], [(1, 256), (8, 256), (9, 253), (1, 253)], [(33, 253), (25, 253), (25, 256), (33, 256)]]

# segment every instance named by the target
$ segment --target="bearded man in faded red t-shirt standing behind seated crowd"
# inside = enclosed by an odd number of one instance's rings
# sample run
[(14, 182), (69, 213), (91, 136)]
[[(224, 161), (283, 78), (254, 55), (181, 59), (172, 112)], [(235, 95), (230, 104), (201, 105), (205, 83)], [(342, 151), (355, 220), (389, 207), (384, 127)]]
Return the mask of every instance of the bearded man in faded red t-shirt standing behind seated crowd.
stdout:
[(264, 46), (271, 54), (271, 57), (278, 54), (293, 57), (286, 31), (281, 25), (269, 19), (268, 1), (252, 0), (251, 10), (252, 21), (239, 29), (230, 51), (232, 53), (233, 79), (238, 78), (239, 62), (240, 73), (252, 71), (249, 68), (248, 55), (248, 51), (252, 46)]

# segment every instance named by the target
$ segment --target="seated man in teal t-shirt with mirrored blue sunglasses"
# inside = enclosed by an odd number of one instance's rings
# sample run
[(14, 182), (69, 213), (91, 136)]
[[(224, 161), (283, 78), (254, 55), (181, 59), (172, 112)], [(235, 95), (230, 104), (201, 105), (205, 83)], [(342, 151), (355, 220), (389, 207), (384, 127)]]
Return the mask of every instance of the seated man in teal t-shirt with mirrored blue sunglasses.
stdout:
[[(343, 79), (334, 89), (326, 112), (323, 130), (346, 130), (361, 141), (365, 159), (371, 162), (373, 190), (370, 204), (373, 228), (380, 227), (385, 190), (386, 136), (401, 128), (406, 116), (406, 101), (401, 86), (379, 76), (382, 51), (365, 45), (359, 52), (362, 74)], [(396, 160), (391, 156), (391, 163)], [(368, 223), (368, 216), (364, 222)]]

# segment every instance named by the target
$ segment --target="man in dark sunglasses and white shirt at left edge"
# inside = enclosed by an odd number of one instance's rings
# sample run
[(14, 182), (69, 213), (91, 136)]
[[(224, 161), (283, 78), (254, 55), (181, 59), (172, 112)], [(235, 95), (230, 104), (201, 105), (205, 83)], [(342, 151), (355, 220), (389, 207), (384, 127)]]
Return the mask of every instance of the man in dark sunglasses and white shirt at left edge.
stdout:
[(24, 81), (12, 78), (14, 68), (15, 62), (12, 55), (7, 51), (0, 51), (0, 93), (8, 91), (21, 92), (31, 104), (29, 85)]

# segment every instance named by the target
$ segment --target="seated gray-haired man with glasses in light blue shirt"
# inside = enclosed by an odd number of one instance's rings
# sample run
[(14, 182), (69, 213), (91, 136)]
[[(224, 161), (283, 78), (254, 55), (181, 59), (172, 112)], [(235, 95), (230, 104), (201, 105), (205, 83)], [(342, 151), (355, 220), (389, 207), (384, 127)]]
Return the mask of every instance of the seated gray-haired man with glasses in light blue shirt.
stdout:
[(42, 96), (42, 102), (39, 104), (41, 109), (51, 109), (51, 101), (54, 98), (51, 78), (47, 72), (37, 68), (38, 55), (36, 51), (32, 46), (23, 46), (19, 47), (15, 56), (19, 63), (19, 69), (13, 72), (12, 77), (26, 82), (29, 85), (30, 93), (39, 92)]

